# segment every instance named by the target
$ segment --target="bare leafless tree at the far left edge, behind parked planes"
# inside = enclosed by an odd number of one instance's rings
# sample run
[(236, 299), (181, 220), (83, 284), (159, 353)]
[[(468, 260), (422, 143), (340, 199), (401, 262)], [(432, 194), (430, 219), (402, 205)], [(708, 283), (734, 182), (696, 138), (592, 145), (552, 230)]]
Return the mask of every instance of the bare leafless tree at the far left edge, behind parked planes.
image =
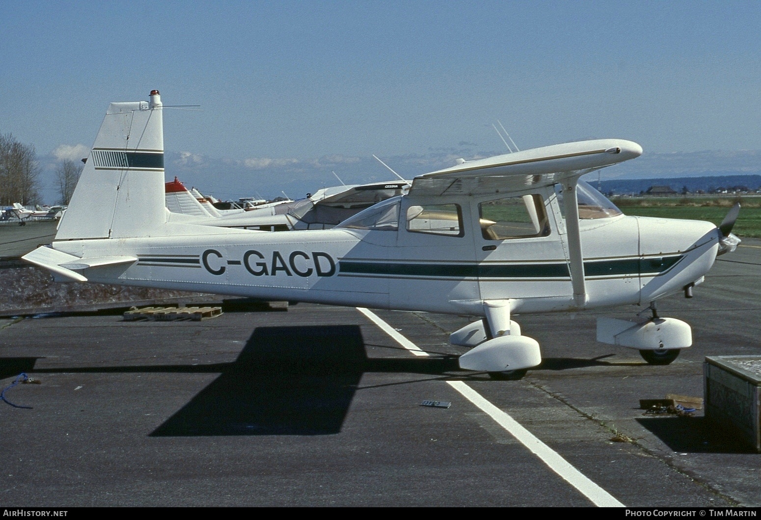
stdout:
[(0, 204), (37, 203), (40, 165), (33, 145), (22, 145), (11, 134), (0, 134)]

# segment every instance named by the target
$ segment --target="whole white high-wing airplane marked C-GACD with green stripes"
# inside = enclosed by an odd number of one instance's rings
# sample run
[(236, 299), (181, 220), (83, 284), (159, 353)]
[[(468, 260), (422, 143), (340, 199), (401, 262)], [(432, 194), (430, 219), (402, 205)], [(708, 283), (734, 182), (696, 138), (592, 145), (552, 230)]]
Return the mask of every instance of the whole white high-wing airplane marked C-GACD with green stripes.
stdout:
[(218, 228), (164, 206), (161, 97), (151, 91), (147, 102), (110, 104), (55, 240), (24, 259), (65, 282), (468, 314), (476, 321), (451, 334), (470, 348), (460, 368), (507, 378), (542, 361), (516, 314), (649, 306), (647, 321), (600, 319), (597, 340), (667, 364), (692, 333), (655, 304), (690, 296), (734, 250), (739, 208), (719, 228), (627, 216), (579, 182), (641, 154), (635, 142), (598, 139), (458, 160), (331, 229)]

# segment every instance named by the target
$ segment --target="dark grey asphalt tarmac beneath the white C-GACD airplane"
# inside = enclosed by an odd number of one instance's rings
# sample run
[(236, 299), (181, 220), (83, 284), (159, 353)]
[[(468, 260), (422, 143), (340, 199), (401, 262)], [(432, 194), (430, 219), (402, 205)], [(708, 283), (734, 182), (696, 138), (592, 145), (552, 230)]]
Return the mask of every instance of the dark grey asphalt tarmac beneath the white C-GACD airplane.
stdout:
[[(447, 337), (467, 319), (440, 314), (374, 311), (428, 356), (357, 309), (320, 305), (2, 319), (0, 503), (758, 507), (761, 454), (702, 409), (652, 415), (639, 400), (702, 397), (706, 356), (761, 356), (759, 274), (761, 241), (747, 239), (694, 298), (661, 301), (661, 316), (693, 326), (667, 366), (597, 343), (600, 313), (518, 316), (544, 359), (521, 381), (460, 370), (464, 349)], [(39, 384), (11, 387), (21, 373)], [(561, 476), (488, 407), (581, 477)], [(584, 478), (602, 492), (585, 493)]]

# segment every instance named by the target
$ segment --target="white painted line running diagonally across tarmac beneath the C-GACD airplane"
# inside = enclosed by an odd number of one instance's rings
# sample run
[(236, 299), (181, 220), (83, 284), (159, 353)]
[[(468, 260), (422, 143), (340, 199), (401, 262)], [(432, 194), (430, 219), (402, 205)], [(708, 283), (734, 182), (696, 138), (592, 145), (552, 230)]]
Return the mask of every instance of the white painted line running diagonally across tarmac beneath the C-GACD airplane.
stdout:
[[(421, 350), (419, 346), (417, 346), (415, 343), (412, 343), (412, 341), (408, 340), (406, 337), (403, 337), (393, 327), (391, 327), (385, 321), (381, 320), (377, 314), (368, 311), (366, 308), (357, 308), (357, 310), (362, 314), (365, 314), (365, 317), (367, 317), (368, 320), (372, 321), (374, 324), (380, 327), (381, 330), (396, 340), (397, 343), (408, 349), (416, 356), (428, 356), (428, 353)], [(475, 404), (476, 407), (479, 407), (479, 409), (481, 409), (484, 413), (495, 420), (499, 426), (507, 430), (508, 433), (513, 435), (515, 439), (526, 446), (526, 448), (528, 448), (534, 455), (537, 455), (537, 457), (539, 457), (544, 462), (544, 464), (549, 467), (549, 469), (554, 471), (556, 474), (562, 477), (563, 480), (575, 487), (579, 493), (586, 496), (587, 499), (590, 499), (595, 506), (626, 507), (621, 502), (616, 500), (613, 495), (608, 493), (606, 490), (603, 490), (603, 488), (592, 482), (592, 480), (585, 477), (581, 471), (578, 471), (575, 467), (572, 466), (572, 464), (568, 463), (565, 458), (562, 458), (557, 451), (544, 444), (542, 441), (540, 441), (540, 439), (537, 439), (533, 433), (529, 432), (527, 429), (521, 426), (521, 424), (517, 423), (516, 420), (508, 415), (508, 413), (505, 413), (498, 407), (495, 407), (495, 405), (490, 403), (489, 400), (486, 400), (484, 397), (482, 397), (481, 394), (473, 390), (473, 388), (470, 388), (470, 386), (463, 383), (463, 381), (447, 381), (447, 383), (450, 384), (452, 388), (460, 392), (463, 397), (465, 397), (467, 400), (470, 400), (471, 403)]]

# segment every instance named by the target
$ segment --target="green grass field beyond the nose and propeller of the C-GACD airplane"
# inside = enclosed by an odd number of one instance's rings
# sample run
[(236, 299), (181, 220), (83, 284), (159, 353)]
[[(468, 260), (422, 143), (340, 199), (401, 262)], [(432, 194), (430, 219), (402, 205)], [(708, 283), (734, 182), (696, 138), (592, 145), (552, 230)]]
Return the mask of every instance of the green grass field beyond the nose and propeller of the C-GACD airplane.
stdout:
[(736, 202), (740, 216), (732, 229), (738, 237), (761, 238), (761, 197), (612, 197), (626, 215), (664, 219), (707, 220), (719, 225)]

